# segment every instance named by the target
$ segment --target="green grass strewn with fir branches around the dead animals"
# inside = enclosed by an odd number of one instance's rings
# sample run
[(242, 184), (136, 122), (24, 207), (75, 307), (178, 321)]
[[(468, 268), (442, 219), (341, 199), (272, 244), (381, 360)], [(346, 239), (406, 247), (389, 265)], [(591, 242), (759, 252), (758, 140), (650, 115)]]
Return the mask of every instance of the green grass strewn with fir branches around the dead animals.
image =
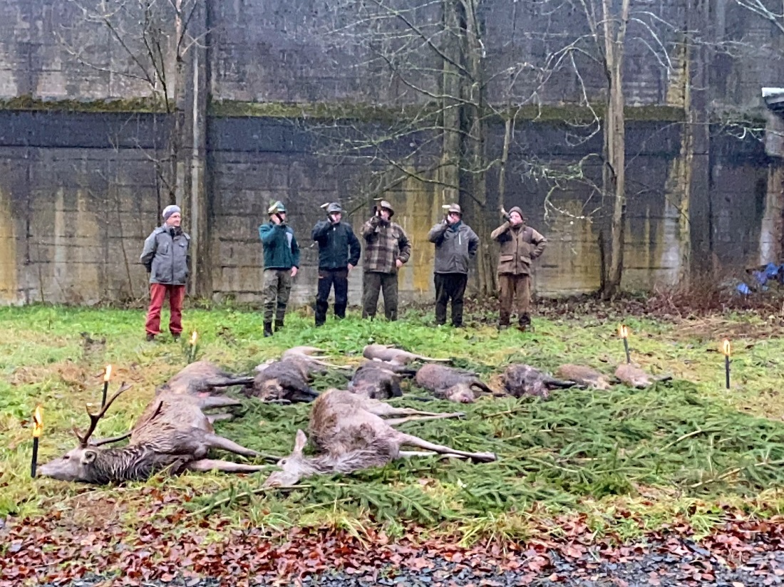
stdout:
[[(433, 357), (453, 357), (498, 386), (509, 362), (554, 369), (587, 364), (612, 373), (622, 361), (617, 324), (535, 320), (535, 332), (496, 332), (480, 325), (432, 328), (432, 313), (409, 311), (396, 323), (328, 321), (314, 328), (304, 313), (287, 317), (285, 335), (264, 339), (260, 313), (234, 308), (187, 310), (187, 332), (199, 333), (199, 358), (231, 371), (248, 372), (299, 344), (320, 346), (336, 362), (357, 362), (369, 342), (397, 344)], [(187, 501), (198, 519), (205, 513), (234, 525), (270, 530), (294, 524), (340, 527), (362, 534), (383, 524), (390, 534), (407, 524), (456, 530), (470, 542), (479, 536), (519, 538), (532, 516), (583, 512), (598, 534), (630, 535), (685, 517), (699, 531), (720, 519), (725, 505), (776, 513), (784, 480), (784, 402), (779, 397), (784, 343), (757, 339), (765, 321), (756, 315), (683, 324), (630, 318), (635, 361), (674, 376), (649, 390), (616, 386), (611, 391), (562, 390), (549, 401), (483, 399), (461, 406), (466, 418), (412, 422), (404, 429), (427, 440), (471, 451), (495, 451), (485, 465), (431, 458), (400, 460), (351, 476), (303, 480), (295, 491), (260, 492), (263, 474), (187, 474), (156, 477), (122, 488), (89, 488), (30, 478), (29, 419), (45, 408), (39, 462), (74, 446), (71, 426), (84, 426), (85, 402), (100, 401), (103, 365), (114, 368), (114, 386), (134, 384), (101, 422), (96, 436), (122, 433), (154, 393), (183, 367), (186, 343), (143, 342), (140, 310), (50, 306), (0, 309), (0, 516), (27, 516), (69, 507), (89, 495), (113, 495), (131, 513), (145, 503), (145, 488), (163, 487)], [(85, 346), (80, 332), (105, 345)], [(724, 390), (724, 362), (715, 352), (731, 334), (735, 343), (731, 390)], [(167, 342), (167, 339), (168, 342)], [(315, 386), (341, 386), (331, 374)], [(412, 397), (423, 390), (412, 387)], [(411, 397), (397, 404), (422, 408)], [(433, 411), (455, 411), (444, 401)], [(232, 422), (219, 422), (224, 436), (256, 450), (286, 455), (296, 429), (307, 428), (307, 405), (277, 406), (244, 400)], [(643, 519), (643, 522), (639, 520)], [(632, 521), (633, 520), (633, 521)], [(232, 525), (232, 524), (230, 524)]]

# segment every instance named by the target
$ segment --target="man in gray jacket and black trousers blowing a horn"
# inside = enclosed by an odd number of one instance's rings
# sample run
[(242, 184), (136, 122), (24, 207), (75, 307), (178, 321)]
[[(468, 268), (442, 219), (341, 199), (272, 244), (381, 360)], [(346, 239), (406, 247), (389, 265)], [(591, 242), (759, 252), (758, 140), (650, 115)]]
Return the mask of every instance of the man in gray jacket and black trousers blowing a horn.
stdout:
[(445, 206), (446, 216), (427, 234), (436, 245), (434, 282), (436, 324), (446, 324), (446, 304), (452, 299), (452, 326), (463, 326), (463, 295), (468, 283), (468, 264), (477, 254), (479, 237), (463, 224), (463, 210), (457, 204)]

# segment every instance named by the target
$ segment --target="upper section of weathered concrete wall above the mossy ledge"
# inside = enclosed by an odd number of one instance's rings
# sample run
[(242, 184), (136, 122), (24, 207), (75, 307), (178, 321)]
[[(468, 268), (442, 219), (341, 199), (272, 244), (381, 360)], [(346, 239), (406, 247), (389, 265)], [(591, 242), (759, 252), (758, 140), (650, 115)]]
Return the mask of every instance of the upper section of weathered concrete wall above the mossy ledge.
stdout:
[[(410, 8), (412, 2), (401, 5)], [(32, 96), (44, 100), (105, 100), (148, 96), (150, 85), (139, 79), (148, 63), (135, 63), (113, 40), (98, 19), (85, 20), (83, 5), (100, 13), (121, 3), (47, 2), (5, 0), (0, 3), (0, 98)], [(114, 14), (127, 32), (123, 39), (134, 55), (140, 50), (140, 14), (134, 2), (122, 3)], [(172, 15), (161, 2), (164, 49), (172, 49)], [(437, 4), (423, 2), (426, 10), (412, 16), (437, 24)], [(655, 35), (662, 45), (685, 30), (686, 13), (693, 0), (633, 2), (633, 9), (655, 13)], [(776, 85), (784, 77), (784, 35), (772, 24), (742, 9), (732, 0), (714, 0), (704, 29), (696, 38), (710, 42), (712, 80), (710, 100), (715, 107), (747, 110), (760, 106), (760, 87)], [(416, 100), (408, 86), (373, 63), (354, 38), (347, 2), (305, 0), (212, 0), (212, 93), (218, 100), (258, 102), (349, 101), (376, 103)], [(515, 82), (514, 96), (530, 96), (539, 80), (530, 72), (551, 63), (554, 52), (586, 31), (585, 18), (569, 2), (517, 2), (486, 0), (485, 21), (488, 78), (509, 67), (527, 63)], [(385, 26), (394, 26), (395, 18)], [(644, 31), (632, 22), (626, 48), (627, 103), (664, 103), (670, 79), (646, 45)], [(639, 39), (639, 40), (636, 40)], [(724, 45), (721, 45), (724, 43)], [(432, 65), (426, 53), (416, 53)], [(173, 61), (167, 61), (173, 67)], [(589, 93), (604, 87), (602, 72), (580, 63), (581, 78)], [(677, 63), (673, 63), (677, 67)], [(420, 72), (421, 73), (421, 72)], [(136, 78), (129, 77), (136, 76)], [(672, 75), (672, 72), (670, 72)], [(507, 76), (508, 77), (508, 76)], [(506, 100), (503, 76), (492, 80), (495, 100)], [(575, 103), (580, 95), (578, 76), (564, 68), (539, 88), (541, 103)]]

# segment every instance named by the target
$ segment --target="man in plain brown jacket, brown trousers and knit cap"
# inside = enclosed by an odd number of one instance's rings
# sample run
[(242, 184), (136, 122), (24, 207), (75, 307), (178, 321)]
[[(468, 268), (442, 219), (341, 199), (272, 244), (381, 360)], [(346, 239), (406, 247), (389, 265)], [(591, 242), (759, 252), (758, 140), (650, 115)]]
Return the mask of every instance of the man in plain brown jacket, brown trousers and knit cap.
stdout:
[(528, 309), (531, 306), (531, 263), (539, 257), (547, 245), (547, 239), (526, 226), (523, 211), (514, 206), (508, 219), (490, 234), (501, 245), (498, 259), (499, 281), (499, 329), (509, 327), (514, 311), (521, 330), (531, 325)]

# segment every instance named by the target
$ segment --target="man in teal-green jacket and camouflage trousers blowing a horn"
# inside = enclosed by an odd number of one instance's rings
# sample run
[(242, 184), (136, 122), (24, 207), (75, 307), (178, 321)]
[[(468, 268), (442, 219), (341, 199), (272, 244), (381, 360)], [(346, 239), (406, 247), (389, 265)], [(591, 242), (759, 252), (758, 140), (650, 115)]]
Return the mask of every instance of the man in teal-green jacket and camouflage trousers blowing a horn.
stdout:
[(283, 203), (276, 201), (267, 213), (270, 221), (259, 226), (259, 237), (264, 248), (264, 336), (272, 336), (273, 314), (275, 332), (283, 328), (292, 279), (299, 270), (299, 245), (286, 224)]

